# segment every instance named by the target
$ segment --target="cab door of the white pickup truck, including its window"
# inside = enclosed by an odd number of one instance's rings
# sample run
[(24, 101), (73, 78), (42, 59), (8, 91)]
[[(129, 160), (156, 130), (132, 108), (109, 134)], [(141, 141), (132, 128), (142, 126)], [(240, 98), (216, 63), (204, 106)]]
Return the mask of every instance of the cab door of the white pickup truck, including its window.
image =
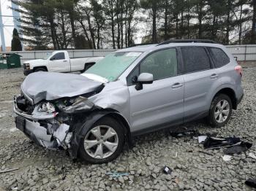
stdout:
[(51, 71), (70, 71), (69, 60), (65, 58), (64, 52), (57, 52), (49, 61)]

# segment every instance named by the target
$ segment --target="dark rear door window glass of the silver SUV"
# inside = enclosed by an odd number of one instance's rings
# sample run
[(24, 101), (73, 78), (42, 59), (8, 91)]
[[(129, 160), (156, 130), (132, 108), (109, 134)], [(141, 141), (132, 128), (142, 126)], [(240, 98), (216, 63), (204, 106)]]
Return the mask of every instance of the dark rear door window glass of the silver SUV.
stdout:
[(204, 47), (181, 47), (185, 73), (211, 69), (211, 63)]

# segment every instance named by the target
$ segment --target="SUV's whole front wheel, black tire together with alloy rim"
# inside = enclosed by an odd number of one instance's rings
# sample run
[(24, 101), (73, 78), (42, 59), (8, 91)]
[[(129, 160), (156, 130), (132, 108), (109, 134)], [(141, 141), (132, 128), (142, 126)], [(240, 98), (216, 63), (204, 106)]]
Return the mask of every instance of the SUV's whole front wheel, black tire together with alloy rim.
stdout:
[[(106, 136), (108, 130), (110, 132), (108, 135), (111, 136), (109, 139), (105, 139), (108, 137)], [(100, 132), (100, 136), (98, 132)], [(95, 134), (98, 136), (95, 136)], [(124, 140), (123, 125), (112, 117), (102, 117), (102, 119), (95, 122), (94, 125), (87, 130), (86, 135), (83, 136), (78, 151), (79, 156), (88, 163), (108, 163), (109, 161), (116, 159), (116, 157), (121, 154), (124, 147)], [(86, 145), (87, 149), (85, 149)], [(112, 151), (108, 149), (107, 146), (110, 147)]]

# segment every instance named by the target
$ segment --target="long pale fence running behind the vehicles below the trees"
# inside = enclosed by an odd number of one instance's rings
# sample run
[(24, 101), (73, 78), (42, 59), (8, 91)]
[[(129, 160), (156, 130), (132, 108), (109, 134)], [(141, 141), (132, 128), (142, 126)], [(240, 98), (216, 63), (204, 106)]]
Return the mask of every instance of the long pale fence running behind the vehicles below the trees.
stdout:
[[(252, 45), (230, 45), (227, 49), (233, 54), (238, 61), (256, 61), (256, 44)], [(70, 58), (88, 57), (88, 56), (105, 56), (115, 50), (67, 50)], [(21, 55), (21, 61), (29, 61), (32, 59), (45, 58), (53, 50), (39, 51), (19, 51), (19, 52), (1, 52), (1, 53), (17, 53)]]

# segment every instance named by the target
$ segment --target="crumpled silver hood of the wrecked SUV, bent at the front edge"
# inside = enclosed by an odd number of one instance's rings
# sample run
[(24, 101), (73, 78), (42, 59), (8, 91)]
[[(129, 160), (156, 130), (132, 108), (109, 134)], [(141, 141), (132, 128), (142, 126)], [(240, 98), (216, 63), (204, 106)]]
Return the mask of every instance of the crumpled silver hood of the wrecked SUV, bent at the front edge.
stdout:
[(26, 77), (21, 90), (37, 104), (44, 99), (50, 101), (90, 93), (101, 85), (78, 74), (39, 71)]

